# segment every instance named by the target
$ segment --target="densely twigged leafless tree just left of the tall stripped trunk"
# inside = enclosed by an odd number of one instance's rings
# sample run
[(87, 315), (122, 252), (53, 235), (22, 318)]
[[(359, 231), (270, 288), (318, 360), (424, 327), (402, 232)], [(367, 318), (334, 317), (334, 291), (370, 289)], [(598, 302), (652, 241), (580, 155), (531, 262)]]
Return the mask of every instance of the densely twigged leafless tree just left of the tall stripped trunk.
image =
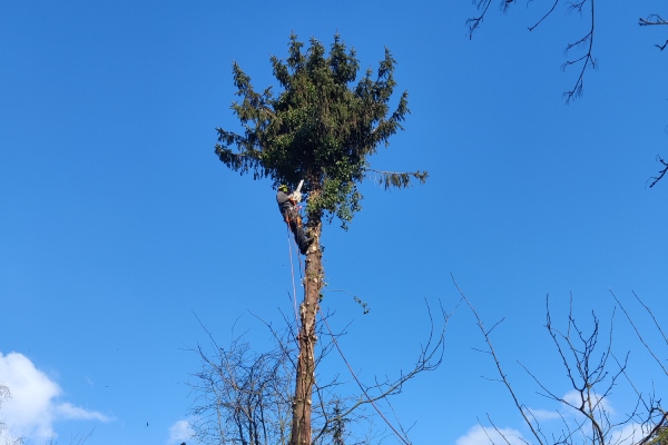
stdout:
[(208, 333), (214, 353), (202, 346), (202, 368), (190, 384), (196, 438), (205, 444), (286, 444), (289, 438), (292, 350), (284, 338), (255, 353), (243, 336), (227, 348)]

